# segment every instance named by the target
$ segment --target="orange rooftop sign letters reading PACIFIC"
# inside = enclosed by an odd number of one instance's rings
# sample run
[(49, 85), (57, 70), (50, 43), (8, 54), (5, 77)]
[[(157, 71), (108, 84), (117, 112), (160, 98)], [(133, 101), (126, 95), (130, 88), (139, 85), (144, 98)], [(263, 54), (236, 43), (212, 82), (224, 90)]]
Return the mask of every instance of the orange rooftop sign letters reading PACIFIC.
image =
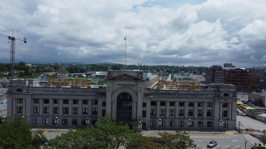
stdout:
[[(75, 80), (75, 82), (74, 82), (74, 80)], [(90, 79), (88, 79), (88, 80), (72, 79), (71, 80), (71, 84), (68, 83), (68, 81), (69, 81), (69, 79), (64, 79), (63, 81), (61, 79), (57, 79), (56, 85), (53, 85), (53, 86), (90, 87), (90, 83), (88, 83), (88, 82), (90, 82), (91, 80)], [(54, 83), (54, 82), (55, 82), (55, 78), (54, 77), (48, 77), (48, 85), (49, 86), (50, 86), (50, 83)]]

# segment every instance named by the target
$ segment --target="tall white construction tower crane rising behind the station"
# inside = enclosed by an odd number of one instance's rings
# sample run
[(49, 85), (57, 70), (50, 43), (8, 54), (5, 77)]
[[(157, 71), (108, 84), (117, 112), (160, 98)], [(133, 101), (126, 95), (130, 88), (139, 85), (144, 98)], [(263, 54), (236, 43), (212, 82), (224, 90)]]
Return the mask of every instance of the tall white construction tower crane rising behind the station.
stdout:
[(15, 79), (15, 40), (22, 40), (24, 41), (24, 43), (27, 43), (27, 38), (24, 38), (24, 39), (20, 39), (20, 38), (17, 38), (15, 36), (16, 34), (16, 29), (13, 29), (13, 34), (7, 34), (7, 33), (4, 33), (2, 31), (0, 31), (0, 34), (2, 35), (5, 35), (8, 37), (8, 39), (11, 40), (11, 54), (10, 54), (10, 65), (11, 65), (11, 69), (10, 69), (10, 73), (11, 73), (11, 79)]

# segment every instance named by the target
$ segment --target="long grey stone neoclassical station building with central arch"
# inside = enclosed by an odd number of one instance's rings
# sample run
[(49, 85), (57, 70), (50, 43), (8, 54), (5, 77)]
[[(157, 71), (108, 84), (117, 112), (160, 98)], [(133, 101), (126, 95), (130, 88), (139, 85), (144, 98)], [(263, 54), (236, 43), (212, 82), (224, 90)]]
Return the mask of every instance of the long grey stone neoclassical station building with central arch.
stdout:
[[(210, 84), (208, 90), (156, 90), (142, 71), (108, 70), (106, 87), (44, 87), (36, 79), (13, 79), (7, 91), (8, 115), (26, 115), (32, 125), (91, 126), (110, 113), (117, 122), (142, 129), (235, 129), (234, 85)], [(10, 112), (10, 113), (9, 113)], [(7, 115), (7, 116), (8, 116)], [(89, 124), (86, 124), (86, 119)]]

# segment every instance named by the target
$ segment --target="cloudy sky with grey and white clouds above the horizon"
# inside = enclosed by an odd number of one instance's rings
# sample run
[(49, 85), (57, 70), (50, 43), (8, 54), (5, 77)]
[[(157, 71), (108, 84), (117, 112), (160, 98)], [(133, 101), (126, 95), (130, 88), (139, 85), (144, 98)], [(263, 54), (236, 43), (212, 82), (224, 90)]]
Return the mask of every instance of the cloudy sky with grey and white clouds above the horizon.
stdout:
[[(16, 62), (266, 65), (265, 0), (1, 0)], [(0, 26), (0, 31), (9, 28)], [(21, 36), (20, 36), (21, 35)], [(0, 35), (0, 61), (10, 43)]]

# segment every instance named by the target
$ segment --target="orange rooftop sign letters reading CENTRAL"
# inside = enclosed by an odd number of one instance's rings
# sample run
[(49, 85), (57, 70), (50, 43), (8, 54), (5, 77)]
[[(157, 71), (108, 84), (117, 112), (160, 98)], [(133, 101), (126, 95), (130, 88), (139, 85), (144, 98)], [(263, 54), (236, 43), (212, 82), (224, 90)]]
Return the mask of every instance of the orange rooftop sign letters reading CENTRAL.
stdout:
[[(192, 85), (190, 86), (189, 82), (170, 82), (170, 81), (164, 81), (164, 80), (158, 80), (158, 88), (164, 88), (164, 85), (163, 85), (164, 82), (165, 82), (166, 88), (168, 89), (170, 88), (171, 89), (202, 89), (202, 87), (200, 87), (199, 82), (198, 82), (198, 85), (196, 85), (196, 83), (193, 82)], [(162, 83), (162, 86), (160, 86), (161, 83)], [(184, 83), (184, 86), (182, 87), (183, 83)]]

